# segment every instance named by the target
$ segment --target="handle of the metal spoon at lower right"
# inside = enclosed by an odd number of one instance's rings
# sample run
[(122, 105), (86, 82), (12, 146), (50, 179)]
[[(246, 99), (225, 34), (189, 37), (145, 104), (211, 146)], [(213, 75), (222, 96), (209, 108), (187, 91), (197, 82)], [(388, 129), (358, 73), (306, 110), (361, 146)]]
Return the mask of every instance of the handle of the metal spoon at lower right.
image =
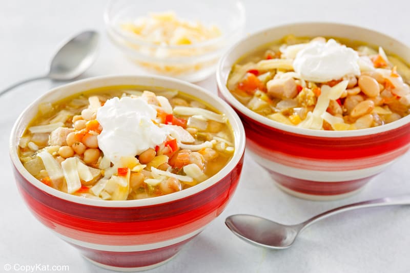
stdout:
[(379, 198), (379, 199), (373, 199), (373, 200), (368, 200), (368, 201), (362, 201), (350, 205), (345, 205), (345, 206), (340, 206), (331, 209), (330, 211), (321, 213), (319, 215), (316, 215), (312, 217), (311, 219), (308, 219), (301, 223), (303, 230), (304, 228), (310, 226), (311, 224), (322, 220), (324, 218), (327, 218), (329, 216), (339, 214), (339, 213), (344, 213), (348, 211), (353, 211), (353, 209), (358, 209), (358, 208), (365, 208), (365, 207), (376, 207), (376, 206), (392, 206), (392, 205), (410, 205), (410, 195), (400, 195), (396, 197), (384, 197), (384, 198)]

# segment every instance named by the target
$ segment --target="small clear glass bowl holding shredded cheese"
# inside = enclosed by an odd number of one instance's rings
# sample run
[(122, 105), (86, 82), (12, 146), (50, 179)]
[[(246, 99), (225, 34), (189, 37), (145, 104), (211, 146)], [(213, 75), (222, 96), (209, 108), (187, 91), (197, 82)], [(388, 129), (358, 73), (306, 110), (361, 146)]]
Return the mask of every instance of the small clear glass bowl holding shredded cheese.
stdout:
[(146, 72), (191, 82), (211, 75), (245, 23), (243, 5), (227, 1), (113, 0), (105, 11), (111, 41)]

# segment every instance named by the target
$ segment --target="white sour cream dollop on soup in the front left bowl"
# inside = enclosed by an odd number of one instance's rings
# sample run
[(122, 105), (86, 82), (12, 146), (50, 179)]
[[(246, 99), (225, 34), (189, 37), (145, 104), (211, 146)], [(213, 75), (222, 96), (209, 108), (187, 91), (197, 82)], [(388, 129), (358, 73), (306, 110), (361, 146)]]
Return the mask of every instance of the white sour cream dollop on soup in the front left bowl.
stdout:
[(142, 98), (114, 97), (97, 111), (103, 131), (98, 146), (111, 162), (124, 156), (136, 156), (166, 140), (168, 132), (159, 128), (153, 119), (156, 110)]

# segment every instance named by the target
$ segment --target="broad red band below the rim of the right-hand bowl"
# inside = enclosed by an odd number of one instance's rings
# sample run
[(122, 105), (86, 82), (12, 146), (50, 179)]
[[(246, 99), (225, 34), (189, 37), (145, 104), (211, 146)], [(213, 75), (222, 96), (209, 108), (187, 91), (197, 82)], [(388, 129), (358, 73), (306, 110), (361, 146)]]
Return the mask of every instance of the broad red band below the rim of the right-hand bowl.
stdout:
[(407, 148), (410, 123), (395, 130), (356, 137), (298, 135), (260, 123), (238, 111), (247, 139), (260, 143), (267, 152), (277, 151), (297, 157), (347, 160), (368, 158)]

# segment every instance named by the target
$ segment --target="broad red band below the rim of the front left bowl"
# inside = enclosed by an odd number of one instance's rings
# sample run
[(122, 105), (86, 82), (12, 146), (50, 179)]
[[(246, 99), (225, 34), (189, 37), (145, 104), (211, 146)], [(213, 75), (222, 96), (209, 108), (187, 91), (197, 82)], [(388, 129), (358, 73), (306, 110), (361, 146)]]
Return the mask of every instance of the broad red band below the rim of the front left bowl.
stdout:
[[(195, 195), (168, 203), (137, 207), (99, 207), (70, 202), (39, 190), (16, 170), (14, 173), (24, 200), (34, 215), (49, 228), (65, 227), (55, 231), (76, 240), (101, 243), (98, 235), (108, 235), (113, 236), (109, 244), (134, 245), (135, 242), (126, 243), (118, 238), (141, 236), (138, 244), (148, 244), (178, 238), (209, 223), (232, 197), (242, 164), (243, 155), (227, 176)], [(168, 232), (170, 230), (174, 233)]]

